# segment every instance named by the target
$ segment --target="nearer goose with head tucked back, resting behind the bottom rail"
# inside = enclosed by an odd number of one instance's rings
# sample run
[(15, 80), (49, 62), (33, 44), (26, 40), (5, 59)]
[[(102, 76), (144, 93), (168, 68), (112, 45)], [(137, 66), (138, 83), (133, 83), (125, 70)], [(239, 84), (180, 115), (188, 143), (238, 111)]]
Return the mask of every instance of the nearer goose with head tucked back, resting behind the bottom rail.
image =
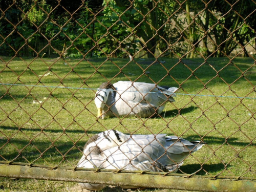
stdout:
[[(77, 167), (177, 172), (183, 160), (204, 144), (166, 134), (130, 136), (108, 130), (88, 140)], [(89, 190), (101, 190), (104, 187), (91, 183), (80, 185)]]

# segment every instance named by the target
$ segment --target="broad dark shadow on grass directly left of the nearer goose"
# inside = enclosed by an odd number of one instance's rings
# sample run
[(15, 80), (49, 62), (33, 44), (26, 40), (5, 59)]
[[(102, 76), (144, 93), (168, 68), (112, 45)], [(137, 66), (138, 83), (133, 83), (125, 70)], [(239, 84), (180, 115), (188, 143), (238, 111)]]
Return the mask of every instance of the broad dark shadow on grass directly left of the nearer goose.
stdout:
[[(1, 139), (0, 145), (2, 147), (2, 152), (0, 156), (0, 161), (12, 161), (15, 159), (15, 162), (27, 162), (34, 161), (40, 157), (40, 159), (53, 158), (56, 163), (56, 158), (61, 160), (63, 156), (65, 159), (78, 159), (81, 158), (82, 151), (85, 142), (78, 141), (74, 147), (72, 141), (56, 141), (52, 143), (51, 141), (32, 141), (22, 139), (10, 139), (7, 143), (7, 139)], [(6, 144), (7, 143), (7, 144)], [(50, 161), (50, 160), (48, 160)]]

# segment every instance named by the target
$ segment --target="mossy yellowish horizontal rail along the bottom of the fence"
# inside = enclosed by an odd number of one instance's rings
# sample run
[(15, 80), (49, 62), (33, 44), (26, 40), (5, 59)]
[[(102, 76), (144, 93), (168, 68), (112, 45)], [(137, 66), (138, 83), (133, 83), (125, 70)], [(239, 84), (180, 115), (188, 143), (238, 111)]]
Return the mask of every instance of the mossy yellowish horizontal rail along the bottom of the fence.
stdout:
[(58, 167), (30, 167), (0, 164), (0, 177), (100, 183), (119, 186), (170, 188), (195, 191), (255, 191), (256, 181), (179, 177), (138, 173), (94, 172)]

